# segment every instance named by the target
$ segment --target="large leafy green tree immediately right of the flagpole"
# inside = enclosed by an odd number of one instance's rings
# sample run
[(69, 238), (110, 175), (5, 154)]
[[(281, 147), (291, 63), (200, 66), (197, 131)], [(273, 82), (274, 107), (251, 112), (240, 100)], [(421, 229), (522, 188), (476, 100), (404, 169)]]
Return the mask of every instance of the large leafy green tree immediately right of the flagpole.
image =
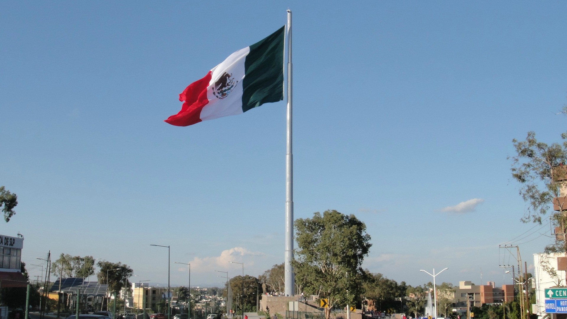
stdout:
[(354, 215), (335, 210), (314, 213), (311, 219), (295, 220), (293, 266), (304, 280), (304, 291), (328, 300), (325, 318), (337, 305), (353, 305), (362, 294), (366, 272), (362, 261), (370, 250), (366, 225)]

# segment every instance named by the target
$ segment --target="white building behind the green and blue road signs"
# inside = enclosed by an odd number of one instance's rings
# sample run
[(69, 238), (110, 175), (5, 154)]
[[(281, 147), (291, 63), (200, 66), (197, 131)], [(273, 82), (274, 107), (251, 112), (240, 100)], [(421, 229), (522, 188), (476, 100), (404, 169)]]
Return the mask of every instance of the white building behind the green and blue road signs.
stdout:
[[(565, 257), (565, 254), (534, 254), (534, 280), (532, 287), (535, 288), (536, 304), (532, 305), (532, 313), (545, 316), (545, 288), (565, 286), (565, 270), (557, 270), (557, 258)], [(548, 267), (552, 271), (545, 271)], [(549, 272), (555, 271), (557, 276), (551, 276)]]

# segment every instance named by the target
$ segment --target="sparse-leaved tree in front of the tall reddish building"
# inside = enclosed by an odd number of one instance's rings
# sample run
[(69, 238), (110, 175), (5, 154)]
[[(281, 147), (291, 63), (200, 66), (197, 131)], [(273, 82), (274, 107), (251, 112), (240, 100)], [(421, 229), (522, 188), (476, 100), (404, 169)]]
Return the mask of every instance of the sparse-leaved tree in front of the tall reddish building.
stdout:
[[(561, 137), (567, 138), (567, 133)], [(528, 203), (522, 221), (541, 224), (553, 205), (549, 219), (559, 236), (544, 252), (567, 253), (567, 142), (547, 145), (536, 140), (535, 132), (528, 132), (525, 141), (512, 142), (517, 153), (511, 157), (512, 177), (521, 184), (519, 194)]]

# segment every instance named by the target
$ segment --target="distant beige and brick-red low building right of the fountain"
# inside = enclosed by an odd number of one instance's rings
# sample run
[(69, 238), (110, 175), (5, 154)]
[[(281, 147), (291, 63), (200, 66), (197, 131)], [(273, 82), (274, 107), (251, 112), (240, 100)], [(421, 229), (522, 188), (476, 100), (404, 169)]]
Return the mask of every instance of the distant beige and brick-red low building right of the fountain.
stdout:
[(493, 282), (485, 285), (475, 285), (472, 282), (459, 282), (455, 289), (455, 308), (458, 313), (467, 313), (468, 308), (481, 307), (483, 304), (502, 304), (514, 300), (514, 285), (494, 287)]

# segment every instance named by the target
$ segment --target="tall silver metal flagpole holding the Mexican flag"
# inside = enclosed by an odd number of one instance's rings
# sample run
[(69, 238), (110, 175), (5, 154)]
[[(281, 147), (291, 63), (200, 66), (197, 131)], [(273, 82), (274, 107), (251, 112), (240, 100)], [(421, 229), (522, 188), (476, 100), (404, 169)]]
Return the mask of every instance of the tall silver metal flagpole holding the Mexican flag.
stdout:
[(293, 152), (291, 148), (291, 10), (287, 10), (287, 129), (285, 156), (285, 295), (293, 296), (295, 280), (291, 260), (293, 259)]

